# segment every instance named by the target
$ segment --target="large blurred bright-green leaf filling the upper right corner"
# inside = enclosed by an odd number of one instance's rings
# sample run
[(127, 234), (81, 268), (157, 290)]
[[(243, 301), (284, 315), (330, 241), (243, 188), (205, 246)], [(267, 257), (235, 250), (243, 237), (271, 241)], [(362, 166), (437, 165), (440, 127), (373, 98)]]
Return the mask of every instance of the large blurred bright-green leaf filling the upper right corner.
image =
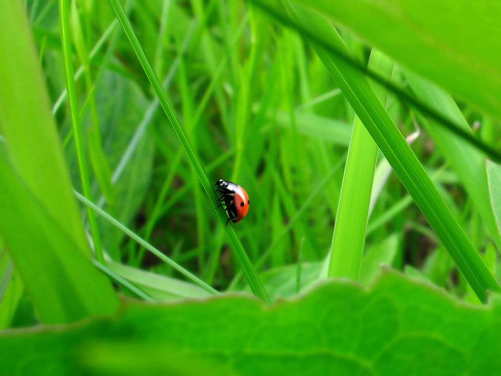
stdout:
[(501, 118), (501, 4), (431, 0), (295, 2), (332, 18), (454, 96)]

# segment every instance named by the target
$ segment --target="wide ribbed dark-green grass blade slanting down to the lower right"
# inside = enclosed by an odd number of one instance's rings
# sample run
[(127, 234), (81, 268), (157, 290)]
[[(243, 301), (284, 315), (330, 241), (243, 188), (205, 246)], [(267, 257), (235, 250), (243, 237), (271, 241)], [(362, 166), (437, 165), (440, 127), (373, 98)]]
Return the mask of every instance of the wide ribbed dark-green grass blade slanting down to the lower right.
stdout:
[[(313, 28), (315, 34), (329, 37), (336, 48), (348, 54), (341, 37), (330, 22), (304, 8), (288, 8), (296, 23), (303, 28)], [(480, 301), (485, 302), (486, 290), (499, 291), (499, 285), (440, 198), (421, 163), (378, 101), (365, 77), (322, 46), (315, 43), (313, 46), (460, 272)]]

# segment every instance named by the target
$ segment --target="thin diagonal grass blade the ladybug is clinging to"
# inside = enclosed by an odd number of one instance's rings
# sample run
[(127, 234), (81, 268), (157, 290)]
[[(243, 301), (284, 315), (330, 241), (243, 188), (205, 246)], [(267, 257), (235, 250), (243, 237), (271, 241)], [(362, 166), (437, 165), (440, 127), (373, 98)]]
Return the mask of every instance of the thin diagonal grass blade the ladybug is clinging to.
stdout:
[[(202, 187), (205, 190), (205, 194), (209, 198), (209, 201), (215, 205), (216, 195), (214, 193), (213, 186), (212, 183), (210, 182), (207, 172), (205, 171), (200, 159), (198, 158), (194, 149), (192, 148), (184, 132), (184, 129), (181, 127), (181, 124), (177, 118), (174, 109), (172, 108), (169, 100), (167, 99), (167, 96), (163, 92), (160, 81), (157, 75), (155, 74), (155, 71), (153, 70), (153, 67), (151, 66), (151, 63), (149, 62), (144, 50), (142, 49), (141, 44), (139, 43), (139, 40), (137, 39), (137, 36), (134, 33), (134, 30), (132, 29), (132, 25), (129, 19), (127, 18), (127, 15), (125, 14), (122, 5), (119, 3), (118, 0), (110, 0), (110, 3), (113, 7), (113, 10), (115, 11), (115, 15), (117, 16), (118, 21), (122, 25), (122, 28), (124, 29), (125, 34), (127, 35), (127, 38), (129, 39), (132, 45), (134, 52), (136, 53), (139, 59), (139, 62), (141, 63), (141, 66), (144, 69), (146, 76), (148, 77), (148, 80), (150, 81), (150, 84), (153, 87), (153, 90), (155, 91), (155, 94), (158, 97), (158, 100), (160, 101), (160, 105), (162, 106), (165, 114), (167, 115), (167, 118), (171, 122), (172, 127), (174, 128), (174, 132), (179, 138), (182, 147), (186, 151), (186, 154), (188, 155), (188, 158), (193, 168), (195, 169), (198, 178), (200, 179)], [(221, 221), (221, 224), (224, 224), (227, 219), (224, 211), (222, 209), (216, 210), (216, 213), (217, 216), (219, 217), (219, 220)], [(256, 294), (256, 296), (258, 296), (262, 300), (269, 302), (270, 298), (268, 297), (268, 294), (266, 293), (266, 290), (263, 284), (261, 283), (258, 273), (256, 272), (256, 269), (250, 262), (248, 255), (245, 253), (245, 250), (243, 249), (240, 240), (236, 237), (236, 234), (232, 226), (228, 226), (226, 228), (226, 233), (228, 234), (230, 243), (233, 247), (233, 250), (235, 251), (236, 257), (242, 266), (245, 277), (247, 278), (249, 285), (252, 287), (253, 292)]]

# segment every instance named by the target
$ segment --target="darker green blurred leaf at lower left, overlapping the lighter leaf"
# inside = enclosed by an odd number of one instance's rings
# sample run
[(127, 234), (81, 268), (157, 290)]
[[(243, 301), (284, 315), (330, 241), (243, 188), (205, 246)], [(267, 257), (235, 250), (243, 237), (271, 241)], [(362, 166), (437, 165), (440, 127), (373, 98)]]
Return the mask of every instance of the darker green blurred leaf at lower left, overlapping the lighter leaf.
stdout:
[(42, 322), (112, 314), (109, 281), (32, 193), (0, 149), (0, 233)]

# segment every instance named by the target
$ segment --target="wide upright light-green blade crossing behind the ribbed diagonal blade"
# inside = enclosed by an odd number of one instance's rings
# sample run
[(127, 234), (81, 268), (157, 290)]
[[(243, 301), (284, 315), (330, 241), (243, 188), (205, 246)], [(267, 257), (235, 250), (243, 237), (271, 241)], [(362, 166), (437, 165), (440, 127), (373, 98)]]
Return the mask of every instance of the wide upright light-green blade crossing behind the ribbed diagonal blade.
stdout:
[[(393, 62), (380, 52), (372, 50), (369, 67), (390, 78)], [(373, 88), (378, 100), (384, 105), (386, 90), (381, 87)], [(346, 277), (355, 281), (359, 278), (377, 151), (371, 135), (358, 116), (355, 116), (336, 213), (329, 277)]]

